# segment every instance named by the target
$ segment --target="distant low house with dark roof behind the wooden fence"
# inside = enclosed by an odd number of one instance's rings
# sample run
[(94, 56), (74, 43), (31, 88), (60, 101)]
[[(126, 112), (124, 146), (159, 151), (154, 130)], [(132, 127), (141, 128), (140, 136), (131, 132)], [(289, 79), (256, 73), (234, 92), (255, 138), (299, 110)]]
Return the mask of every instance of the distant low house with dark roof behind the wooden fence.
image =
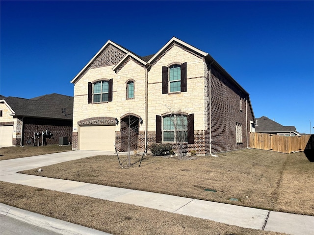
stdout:
[(255, 132), (279, 136), (300, 136), (295, 126), (283, 126), (265, 116), (256, 119)]

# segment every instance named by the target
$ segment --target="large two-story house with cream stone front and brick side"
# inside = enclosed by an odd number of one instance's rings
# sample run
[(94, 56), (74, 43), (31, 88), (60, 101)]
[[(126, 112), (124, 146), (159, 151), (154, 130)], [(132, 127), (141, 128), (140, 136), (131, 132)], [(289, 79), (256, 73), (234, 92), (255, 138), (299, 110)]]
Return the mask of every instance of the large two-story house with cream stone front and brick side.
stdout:
[(130, 117), (138, 151), (174, 143), (173, 118), (188, 123), (186, 151), (248, 146), (249, 94), (208, 53), (175, 37), (145, 57), (107, 41), (71, 82), (73, 149), (126, 151)]

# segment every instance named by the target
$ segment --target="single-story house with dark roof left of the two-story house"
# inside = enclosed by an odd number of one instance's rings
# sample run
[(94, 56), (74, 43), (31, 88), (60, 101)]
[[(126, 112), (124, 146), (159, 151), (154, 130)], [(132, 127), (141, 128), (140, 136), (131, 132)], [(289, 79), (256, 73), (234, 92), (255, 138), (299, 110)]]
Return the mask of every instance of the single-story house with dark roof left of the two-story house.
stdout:
[[(63, 110), (62, 110), (63, 109)], [(65, 113), (62, 113), (64, 111)], [(34, 133), (50, 131), (54, 139), (47, 144), (58, 144), (58, 137), (72, 142), (73, 97), (47, 94), (32, 99), (0, 97), (0, 145), (33, 144)], [(64, 138), (65, 139), (65, 138)], [(42, 138), (35, 137), (36, 144)]]

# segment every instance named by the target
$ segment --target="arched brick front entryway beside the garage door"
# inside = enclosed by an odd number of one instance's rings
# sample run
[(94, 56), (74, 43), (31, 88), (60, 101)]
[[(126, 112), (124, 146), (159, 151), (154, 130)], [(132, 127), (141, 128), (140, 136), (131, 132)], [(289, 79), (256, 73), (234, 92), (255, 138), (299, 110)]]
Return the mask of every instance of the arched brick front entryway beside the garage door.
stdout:
[(130, 151), (138, 149), (139, 116), (135, 114), (126, 114), (121, 117), (121, 150)]

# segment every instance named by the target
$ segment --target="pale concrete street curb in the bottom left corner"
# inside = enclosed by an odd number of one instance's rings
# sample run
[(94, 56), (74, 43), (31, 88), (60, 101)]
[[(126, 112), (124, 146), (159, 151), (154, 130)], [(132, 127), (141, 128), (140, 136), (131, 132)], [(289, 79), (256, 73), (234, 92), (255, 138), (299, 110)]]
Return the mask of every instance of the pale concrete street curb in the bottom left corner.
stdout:
[(111, 235), (102, 231), (73, 224), (60, 219), (51, 218), (42, 214), (25, 211), (0, 203), (0, 214), (20, 221), (44, 228), (62, 235)]

